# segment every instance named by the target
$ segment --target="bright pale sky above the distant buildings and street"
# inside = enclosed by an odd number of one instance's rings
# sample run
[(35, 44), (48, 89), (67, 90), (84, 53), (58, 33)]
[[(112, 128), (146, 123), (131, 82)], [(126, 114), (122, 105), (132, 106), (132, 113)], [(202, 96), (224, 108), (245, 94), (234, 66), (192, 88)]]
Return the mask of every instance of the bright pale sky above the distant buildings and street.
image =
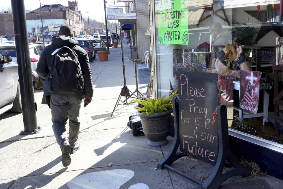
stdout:
[[(3, 0), (2, 0), (3, 1)], [(75, 1), (75, 0), (70, 0)], [(109, 8), (114, 8), (114, 1), (116, 6), (125, 6), (124, 3), (117, 3), (117, 0), (106, 0), (112, 3), (106, 3), (106, 7), (113, 6)], [(37, 3), (36, 3), (37, 2)], [(40, 0), (41, 5), (44, 4), (62, 4), (63, 6), (68, 6), (68, 0)], [(24, 0), (25, 9), (34, 10), (40, 7), (39, 0)], [(91, 19), (97, 19), (98, 21), (105, 23), (105, 14), (104, 14), (104, 4), (103, 0), (77, 0), (78, 2), (78, 9), (83, 13), (83, 17), (90, 17)], [(6, 6), (3, 4), (0, 7), (10, 7), (11, 8), (11, 1)], [(121, 8), (121, 7), (120, 7)], [(84, 13), (88, 12), (88, 13)], [(125, 10), (124, 10), (125, 13)], [(115, 22), (115, 20), (111, 20)]]

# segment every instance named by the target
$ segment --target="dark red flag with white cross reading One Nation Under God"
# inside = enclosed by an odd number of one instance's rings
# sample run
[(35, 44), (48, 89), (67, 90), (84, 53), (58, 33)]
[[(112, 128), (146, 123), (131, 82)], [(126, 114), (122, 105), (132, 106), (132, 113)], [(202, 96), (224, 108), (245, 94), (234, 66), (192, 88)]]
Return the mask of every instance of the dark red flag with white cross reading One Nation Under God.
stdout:
[(261, 73), (241, 70), (240, 108), (246, 112), (257, 114)]

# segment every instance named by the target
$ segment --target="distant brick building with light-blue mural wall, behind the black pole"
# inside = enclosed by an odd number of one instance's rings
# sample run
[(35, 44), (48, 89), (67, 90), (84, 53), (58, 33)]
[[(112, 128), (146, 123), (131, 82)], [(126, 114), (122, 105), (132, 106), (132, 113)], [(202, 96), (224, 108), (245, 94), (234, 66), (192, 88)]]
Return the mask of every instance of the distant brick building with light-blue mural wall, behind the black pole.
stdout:
[[(84, 24), (81, 23), (81, 15), (78, 10), (77, 1), (68, 1), (69, 6), (61, 4), (43, 5), (41, 25), (40, 8), (26, 13), (27, 29), (29, 37), (34, 36), (35, 28), (40, 38), (44, 31), (45, 39), (49, 39), (51, 35), (58, 35), (61, 25), (70, 25), (74, 30), (74, 35), (80, 34)], [(14, 25), (12, 14), (0, 14), (0, 35), (8, 35), (10, 38), (14, 36)], [(47, 40), (48, 41), (48, 40)]]

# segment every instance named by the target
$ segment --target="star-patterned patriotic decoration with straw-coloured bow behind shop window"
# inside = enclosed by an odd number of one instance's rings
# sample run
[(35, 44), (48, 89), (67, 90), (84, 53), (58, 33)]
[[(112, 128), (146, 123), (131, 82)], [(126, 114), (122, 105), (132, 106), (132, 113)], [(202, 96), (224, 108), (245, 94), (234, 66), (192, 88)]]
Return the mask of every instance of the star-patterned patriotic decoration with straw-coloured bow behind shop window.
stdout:
[(215, 69), (219, 77), (240, 77), (240, 70), (251, 70), (251, 65), (241, 46), (228, 44), (218, 55)]

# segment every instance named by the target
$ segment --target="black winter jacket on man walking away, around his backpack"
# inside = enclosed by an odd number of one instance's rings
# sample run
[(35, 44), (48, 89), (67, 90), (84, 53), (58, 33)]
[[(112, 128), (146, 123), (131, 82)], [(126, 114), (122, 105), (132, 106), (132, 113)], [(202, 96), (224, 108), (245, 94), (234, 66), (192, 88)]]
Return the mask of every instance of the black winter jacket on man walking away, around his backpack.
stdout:
[[(68, 46), (70, 48), (73, 48), (73, 50), (77, 53), (78, 60), (80, 62), (80, 67), (83, 73), (84, 94), (86, 97), (92, 97), (93, 96), (93, 83), (92, 83), (92, 78), (91, 78), (91, 68), (89, 66), (87, 52), (83, 48), (78, 46), (77, 40), (69, 36), (65, 36), (65, 35), (54, 36), (52, 38), (52, 43), (56, 45), (57, 47)], [(45, 96), (54, 94), (50, 90), (48, 80), (47, 80), (49, 76), (50, 64), (51, 64), (51, 58), (52, 58), (51, 53), (57, 49), (54, 45), (51, 44), (44, 48), (44, 50), (42, 51), (40, 55), (39, 61), (37, 63), (37, 68), (36, 68), (37, 74), (41, 78), (44, 78), (44, 79), (46, 78), (44, 82), (44, 89), (43, 89)], [(43, 99), (42, 102), (44, 101), (45, 100)], [(44, 103), (44, 104), (47, 104), (47, 103)]]

